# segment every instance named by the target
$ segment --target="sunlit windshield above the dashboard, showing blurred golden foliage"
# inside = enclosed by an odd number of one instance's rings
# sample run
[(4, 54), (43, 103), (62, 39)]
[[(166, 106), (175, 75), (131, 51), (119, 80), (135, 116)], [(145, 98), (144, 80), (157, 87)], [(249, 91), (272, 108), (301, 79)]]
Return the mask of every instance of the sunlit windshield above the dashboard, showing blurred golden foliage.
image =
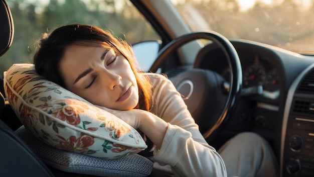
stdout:
[(171, 0), (193, 31), (314, 54), (312, 0)]

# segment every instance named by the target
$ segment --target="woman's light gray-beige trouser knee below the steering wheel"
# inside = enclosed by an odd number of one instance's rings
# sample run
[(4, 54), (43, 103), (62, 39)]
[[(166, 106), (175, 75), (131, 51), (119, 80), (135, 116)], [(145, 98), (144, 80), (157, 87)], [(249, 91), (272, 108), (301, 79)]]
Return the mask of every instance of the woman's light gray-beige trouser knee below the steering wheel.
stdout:
[(261, 136), (245, 132), (236, 135), (219, 150), (228, 176), (277, 177), (279, 167), (268, 142)]

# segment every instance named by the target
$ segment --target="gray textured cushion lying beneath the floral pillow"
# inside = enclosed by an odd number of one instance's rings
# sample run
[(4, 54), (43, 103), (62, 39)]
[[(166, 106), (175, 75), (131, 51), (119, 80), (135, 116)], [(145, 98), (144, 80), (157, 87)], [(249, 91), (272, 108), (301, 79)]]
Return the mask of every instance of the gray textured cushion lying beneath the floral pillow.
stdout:
[(21, 127), (16, 134), (47, 164), (66, 172), (98, 176), (147, 176), (152, 162), (138, 154), (116, 159), (104, 159), (53, 148)]

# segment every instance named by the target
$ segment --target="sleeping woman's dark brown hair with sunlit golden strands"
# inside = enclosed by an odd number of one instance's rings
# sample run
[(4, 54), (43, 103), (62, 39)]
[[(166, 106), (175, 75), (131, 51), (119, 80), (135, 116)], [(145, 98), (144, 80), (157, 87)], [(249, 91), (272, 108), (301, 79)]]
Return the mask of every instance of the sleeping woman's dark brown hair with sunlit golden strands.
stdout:
[(147, 77), (136, 70), (136, 61), (131, 47), (124, 40), (115, 38), (110, 32), (101, 28), (72, 24), (61, 26), (50, 34), (45, 33), (39, 41), (37, 52), (34, 55), (36, 72), (65, 87), (59, 63), (66, 48), (72, 44), (99, 45), (100, 43), (109, 45), (128, 60), (138, 85), (139, 102), (136, 108), (149, 111), (152, 101), (151, 84)]

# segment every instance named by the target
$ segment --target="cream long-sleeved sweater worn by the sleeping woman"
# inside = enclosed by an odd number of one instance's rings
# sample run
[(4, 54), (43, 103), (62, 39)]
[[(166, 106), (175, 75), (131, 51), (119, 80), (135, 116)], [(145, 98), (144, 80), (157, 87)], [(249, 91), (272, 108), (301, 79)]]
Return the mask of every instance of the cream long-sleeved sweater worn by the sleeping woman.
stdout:
[(160, 74), (148, 74), (153, 84), (151, 112), (168, 122), (168, 129), (154, 159), (169, 164), (176, 176), (227, 176), (221, 156), (198, 129), (173, 83)]

